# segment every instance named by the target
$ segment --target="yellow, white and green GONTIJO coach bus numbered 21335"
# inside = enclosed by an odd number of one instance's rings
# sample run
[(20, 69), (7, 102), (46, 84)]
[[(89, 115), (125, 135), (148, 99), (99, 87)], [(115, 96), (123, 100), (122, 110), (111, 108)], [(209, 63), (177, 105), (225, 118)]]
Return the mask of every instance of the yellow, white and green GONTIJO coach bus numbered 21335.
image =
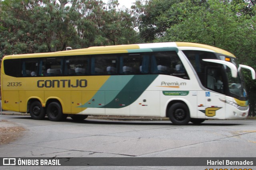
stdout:
[(184, 42), (9, 55), (1, 63), (4, 110), (32, 119), (88, 115), (169, 117), (174, 125), (244, 119), (248, 94), (228, 51)]

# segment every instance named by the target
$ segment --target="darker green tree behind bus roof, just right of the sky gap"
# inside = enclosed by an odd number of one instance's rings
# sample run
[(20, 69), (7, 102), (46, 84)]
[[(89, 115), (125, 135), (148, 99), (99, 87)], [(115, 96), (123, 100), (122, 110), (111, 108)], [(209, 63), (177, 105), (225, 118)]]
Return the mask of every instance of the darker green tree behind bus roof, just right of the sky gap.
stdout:
[(162, 37), (166, 29), (184, 21), (193, 7), (200, 6), (203, 2), (204, 0), (137, 0), (133, 10), (138, 12), (140, 37), (146, 42)]

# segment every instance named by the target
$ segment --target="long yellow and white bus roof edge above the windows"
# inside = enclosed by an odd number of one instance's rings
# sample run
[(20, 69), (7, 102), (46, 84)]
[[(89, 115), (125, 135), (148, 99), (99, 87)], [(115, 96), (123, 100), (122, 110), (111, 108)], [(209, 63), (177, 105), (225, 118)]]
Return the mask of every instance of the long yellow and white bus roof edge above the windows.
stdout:
[[(22, 55), (9, 55), (6, 58), (22, 58), (22, 57), (54, 57), (54, 56), (68, 56), (68, 55), (82, 55), (82, 54), (105, 54), (105, 53), (129, 53), (139, 52), (146, 49), (161, 48), (161, 47), (173, 47), (173, 49), (182, 50), (201, 50), (201, 51), (212, 51), (220, 53), (230, 57), (236, 58), (232, 53), (212, 47), (210, 45), (198, 44), (198, 43), (184, 43), (184, 42), (169, 42), (169, 43), (145, 43), (145, 44), (132, 44), (132, 45), (110, 45), (110, 46), (99, 46), (89, 47), (85, 49), (75, 49), (68, 51), (58, 51), (52, 53), (34, 53), (34, 54), (22, 54)], [(137, 49), (137, 50), (136, 50)], [(143, 50), (144, 49), (144, 50)], [(135, 50), (135, 51), (134, 51)]]

